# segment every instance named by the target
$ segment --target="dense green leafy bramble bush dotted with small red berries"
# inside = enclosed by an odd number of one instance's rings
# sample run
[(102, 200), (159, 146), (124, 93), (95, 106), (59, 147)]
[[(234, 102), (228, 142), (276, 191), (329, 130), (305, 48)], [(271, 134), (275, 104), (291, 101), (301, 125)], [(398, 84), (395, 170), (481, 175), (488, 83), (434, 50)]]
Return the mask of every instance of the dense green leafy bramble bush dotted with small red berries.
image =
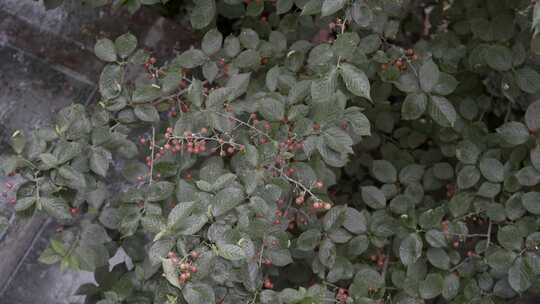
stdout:
[(20, 216), (63, 224), (40, 260), (95, 271), (89, 303), (539, 289), (540, 4), (187, 7), (199, 48), (160, 63), (131, 34), (98, 40), (101, 100), (15, 132), (0, 163)]

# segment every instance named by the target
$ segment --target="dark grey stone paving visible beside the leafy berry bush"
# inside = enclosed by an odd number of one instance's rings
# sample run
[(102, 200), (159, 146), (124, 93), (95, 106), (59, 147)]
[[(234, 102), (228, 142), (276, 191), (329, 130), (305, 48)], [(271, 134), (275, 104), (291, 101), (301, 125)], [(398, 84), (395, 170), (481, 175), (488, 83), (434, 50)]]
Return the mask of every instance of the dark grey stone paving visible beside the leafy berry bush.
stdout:
[[(158, 58), (194, 41), (191, 32), (151, 10), (129, 15), (82, 8), (79, 2), (46, 11), (33, 0), (0, 0), (0, 153), (13, 131), (45, 125), (70, 103), (95, 102), (103, 66), (93, 55), (96, 38), (130, 31)], [(37, 261), (56, 224), (40, 216), (19, 222), (2, 198), (0, 212), (11, 217), (0, 235), (0, 304), (83, 303), (73, 294), (93, 282), (91, 273), (61, 272)]]

